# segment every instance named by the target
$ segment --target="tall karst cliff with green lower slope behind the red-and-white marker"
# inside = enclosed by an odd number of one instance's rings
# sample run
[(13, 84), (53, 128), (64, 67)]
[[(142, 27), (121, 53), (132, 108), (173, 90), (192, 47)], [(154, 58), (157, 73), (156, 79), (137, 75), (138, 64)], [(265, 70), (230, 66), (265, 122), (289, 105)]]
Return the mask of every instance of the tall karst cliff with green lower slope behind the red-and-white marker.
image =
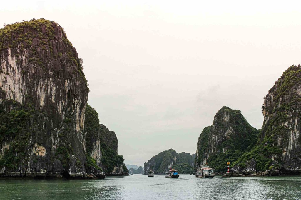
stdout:
[(257, 145), (231, 169), (234, 173), (301, 172), (301, 66), (289, 67), (264, 98)]

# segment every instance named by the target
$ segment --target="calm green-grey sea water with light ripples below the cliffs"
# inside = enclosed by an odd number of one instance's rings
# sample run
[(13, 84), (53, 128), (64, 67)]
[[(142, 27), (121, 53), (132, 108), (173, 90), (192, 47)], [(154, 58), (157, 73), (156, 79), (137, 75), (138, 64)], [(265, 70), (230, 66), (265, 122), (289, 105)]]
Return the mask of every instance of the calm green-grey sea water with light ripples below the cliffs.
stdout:
[(0, 199), (301, 199), (301, 177), (0, 180)]

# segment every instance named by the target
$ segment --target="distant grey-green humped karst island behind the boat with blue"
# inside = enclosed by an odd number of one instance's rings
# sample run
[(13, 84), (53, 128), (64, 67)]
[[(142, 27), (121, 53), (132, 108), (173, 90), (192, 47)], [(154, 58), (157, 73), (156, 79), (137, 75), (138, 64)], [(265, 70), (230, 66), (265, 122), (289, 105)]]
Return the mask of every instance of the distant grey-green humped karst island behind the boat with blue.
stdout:
[(153, 170), (155, 174), (164, 174), (175, 164), (185, 163), (191, 166), (194, 157), (194, 154), (191, 155), (185, 152), (178, 154), (173, 149), (163, 151), (144, 163), (144, 174), (147, 174), (150, 170)]

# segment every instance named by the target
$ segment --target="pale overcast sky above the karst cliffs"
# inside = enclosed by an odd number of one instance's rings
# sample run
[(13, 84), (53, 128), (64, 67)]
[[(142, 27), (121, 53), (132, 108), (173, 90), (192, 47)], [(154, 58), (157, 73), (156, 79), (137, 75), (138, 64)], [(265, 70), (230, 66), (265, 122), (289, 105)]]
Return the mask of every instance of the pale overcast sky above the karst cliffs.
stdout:
[(1, 1), (0, 24), (59, 23), (84, 59), (88, 103), (126, 164), (195, 153), (222, 106), (260, 128), (263, 97), (300, 64), (300, 1)]

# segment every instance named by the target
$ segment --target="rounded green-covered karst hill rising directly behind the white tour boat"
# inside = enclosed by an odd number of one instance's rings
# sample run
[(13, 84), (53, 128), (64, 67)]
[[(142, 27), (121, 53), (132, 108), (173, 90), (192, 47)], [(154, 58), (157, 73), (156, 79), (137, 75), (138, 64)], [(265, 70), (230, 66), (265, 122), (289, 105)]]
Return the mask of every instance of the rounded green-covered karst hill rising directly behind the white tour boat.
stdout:
[(232, 162), (254, 144), (258, 130), (241, 115), (240, 110), (226, 106), (220, 109), (212, 126), (203, 129), (197, 142), (195, 167), (209, 165), (216, 172), (226, 171), (227, 161)]

